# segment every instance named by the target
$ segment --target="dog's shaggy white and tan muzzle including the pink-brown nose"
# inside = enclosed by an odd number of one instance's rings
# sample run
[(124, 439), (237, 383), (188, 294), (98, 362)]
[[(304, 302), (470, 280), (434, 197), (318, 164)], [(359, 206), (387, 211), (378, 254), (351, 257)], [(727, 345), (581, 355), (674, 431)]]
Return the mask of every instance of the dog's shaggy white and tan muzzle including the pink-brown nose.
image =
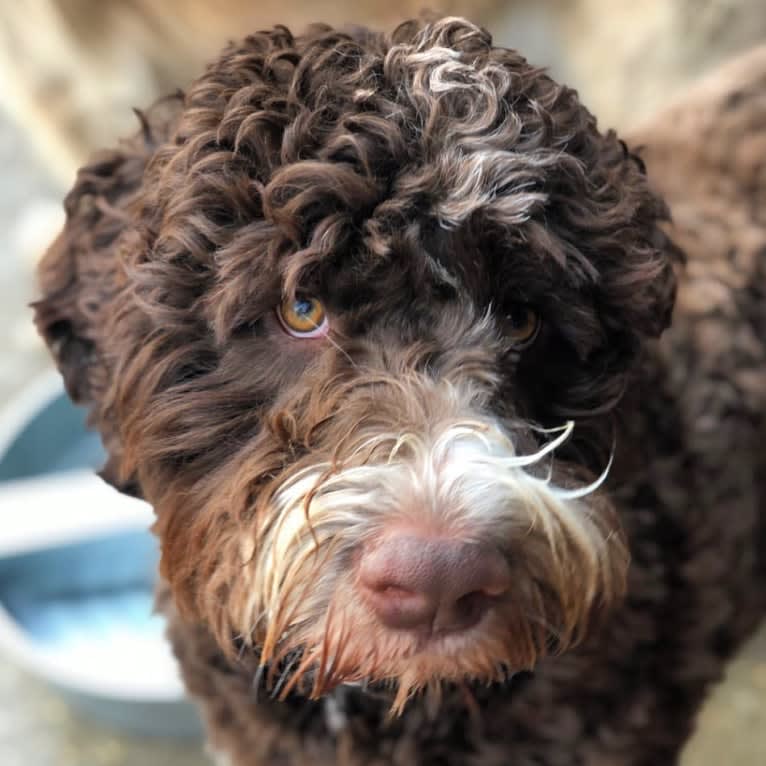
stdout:
[(445, 399), (439, 422), (360, 427), (272, 493), (235, 624), (264, 662), (300, 648), (286, 692), (309, 674), (314, 695), (393, 680), (400, 706), (432, 683), (499, 679), (577, 643), (622, 595), (608, 468), (574, 486), (555, 457), (574, 424), (519, 454), (512, 431)]

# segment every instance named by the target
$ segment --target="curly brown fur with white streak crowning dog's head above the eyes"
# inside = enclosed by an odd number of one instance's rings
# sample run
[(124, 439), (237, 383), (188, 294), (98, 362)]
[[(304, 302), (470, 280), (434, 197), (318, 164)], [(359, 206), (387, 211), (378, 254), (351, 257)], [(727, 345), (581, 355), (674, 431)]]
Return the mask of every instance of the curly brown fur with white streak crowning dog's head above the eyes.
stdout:
[(600, 296), (624, 313), (636, 281), (636, 311), (653, 300), (662, 208), (640, 163), (573, 90), (462, 20), (256, 35), (195, 84), (158, 154), (161, 249), (204, 264), (222, 334), (315, 286), (390, 311), (434, 288), (482, 312), (593, 314)]

